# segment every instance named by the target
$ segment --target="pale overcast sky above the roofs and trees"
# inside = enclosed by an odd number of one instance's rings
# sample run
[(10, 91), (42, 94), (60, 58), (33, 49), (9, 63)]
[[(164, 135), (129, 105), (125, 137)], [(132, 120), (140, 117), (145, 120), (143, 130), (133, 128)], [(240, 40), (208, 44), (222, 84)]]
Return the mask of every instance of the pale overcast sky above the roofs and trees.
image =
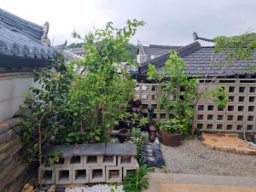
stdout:
[(108, 21), (122, 27), (127, 19), (143, 20), (131, 43), (186, 45), (199, 37), (256, 32), (255, 0), (0, 0), (0, 8), (39, 25), (49, 21), (52, 44), (77, 42)]

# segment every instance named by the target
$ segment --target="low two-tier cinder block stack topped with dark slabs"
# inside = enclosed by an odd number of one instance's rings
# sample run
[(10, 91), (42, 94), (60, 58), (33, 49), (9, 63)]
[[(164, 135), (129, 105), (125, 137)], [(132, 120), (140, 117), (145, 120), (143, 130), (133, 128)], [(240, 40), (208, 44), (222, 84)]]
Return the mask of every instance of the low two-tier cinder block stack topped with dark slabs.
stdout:
[(136, 171), (137, 147), (130, 143), (96, 143), (50, 146), (50, 154), (61, 150), (60, 161), (41, 166), (42, 183), (121, 183), (127, 172)]

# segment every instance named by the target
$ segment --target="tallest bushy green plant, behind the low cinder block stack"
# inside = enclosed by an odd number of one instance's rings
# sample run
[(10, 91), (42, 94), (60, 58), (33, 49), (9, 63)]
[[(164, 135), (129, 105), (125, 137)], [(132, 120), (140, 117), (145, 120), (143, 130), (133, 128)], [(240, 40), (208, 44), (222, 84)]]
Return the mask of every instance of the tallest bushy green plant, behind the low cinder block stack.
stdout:
[[(131, 61), (125, 45), (138, 26), (143, 26), (143, 21), (127, 20), (120, 29), (108, 22), (104, 29), (90, 32), (84, 38), (87, 54), (84, 61), (75, 64), (86, 69), (86, 73), (84, 70), (75, 79), (66, 108), (73, 121), (72, 131), (82, 133), (83, 143), (108, 142), (114, 125), (126, 116), (136, 81), (125, 70), (119, 73), (118, 68), (121, 61)], [(81, 37), (77, 32), (73, 36)]]

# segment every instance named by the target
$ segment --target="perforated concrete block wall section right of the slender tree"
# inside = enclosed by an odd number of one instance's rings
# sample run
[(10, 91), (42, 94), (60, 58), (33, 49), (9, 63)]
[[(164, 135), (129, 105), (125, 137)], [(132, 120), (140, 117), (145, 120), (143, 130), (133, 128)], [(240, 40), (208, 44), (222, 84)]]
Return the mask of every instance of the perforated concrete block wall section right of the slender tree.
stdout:
[(218, 103), (202, 96), (195, 108), (194, 126), (201, 131), (243, 132), (245, 129), (255, 133), (256, 79), (215, 79), (207, 90), (216, 87), (225, 88), (229, 102), (218, 108)]

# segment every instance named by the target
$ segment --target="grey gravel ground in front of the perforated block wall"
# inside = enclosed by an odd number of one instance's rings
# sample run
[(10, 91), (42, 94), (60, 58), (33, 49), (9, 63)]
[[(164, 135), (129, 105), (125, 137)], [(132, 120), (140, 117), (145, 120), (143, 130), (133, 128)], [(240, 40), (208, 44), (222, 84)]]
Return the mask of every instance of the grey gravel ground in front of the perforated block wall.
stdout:
[(161, 144), (161, 149), (169, 172), (256, 177), (256, 155), (212, 150), (197, 139), (184, 140), (175, 148)]

